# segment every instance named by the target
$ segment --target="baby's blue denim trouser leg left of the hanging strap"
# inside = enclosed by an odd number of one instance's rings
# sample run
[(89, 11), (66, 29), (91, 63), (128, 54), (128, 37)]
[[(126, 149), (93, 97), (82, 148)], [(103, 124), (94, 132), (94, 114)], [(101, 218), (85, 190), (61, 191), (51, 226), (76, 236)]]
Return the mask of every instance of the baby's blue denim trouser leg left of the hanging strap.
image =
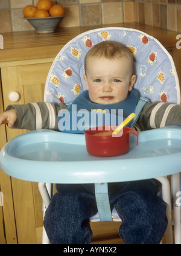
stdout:
[(57, 187), (58, 193), (52, 197), (43, 223), (49, 241), (53, 244), (90, 243), (89, 217), (97, 213), (94, 194), (85, 193), (81, 185)]

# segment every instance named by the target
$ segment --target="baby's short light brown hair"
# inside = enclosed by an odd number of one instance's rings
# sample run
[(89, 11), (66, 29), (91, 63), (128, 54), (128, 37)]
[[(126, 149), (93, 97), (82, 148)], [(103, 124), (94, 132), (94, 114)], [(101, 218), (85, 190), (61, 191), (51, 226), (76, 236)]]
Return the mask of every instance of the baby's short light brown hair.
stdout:
[(132, 75), (135, 74), (133, 66), (133, 56), (126, 46), (115, 41), (103, 41), (94, 45), (86, 54), (84, 60), (84, 69), (86, 73), (86, 64), (89, 57), (105, 57), (106, 59), (121, 59), (128, 57), (130, 59), (130, 67), (132, 67)]

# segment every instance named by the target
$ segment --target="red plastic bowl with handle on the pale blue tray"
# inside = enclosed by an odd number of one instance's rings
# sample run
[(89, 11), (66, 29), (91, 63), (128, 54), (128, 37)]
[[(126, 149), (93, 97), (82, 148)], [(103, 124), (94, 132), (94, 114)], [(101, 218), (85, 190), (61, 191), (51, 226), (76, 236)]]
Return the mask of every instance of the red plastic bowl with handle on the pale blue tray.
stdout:
[[(116, 128), (116, 127), (115, 127)], [(115, 129), (113, 129), (115, 130)], [(138, 145), (139, 133), (129, 127), (124, 127), (120, 136), (95, 136), (95, 133), (112, 132), (107, 126), (94, 127), (84, 131), (86, 139), (86, 149), (93, 156), (118, 156), (123, 155), (130, 150), (130, 133), (137, 136), (136, 145)]]

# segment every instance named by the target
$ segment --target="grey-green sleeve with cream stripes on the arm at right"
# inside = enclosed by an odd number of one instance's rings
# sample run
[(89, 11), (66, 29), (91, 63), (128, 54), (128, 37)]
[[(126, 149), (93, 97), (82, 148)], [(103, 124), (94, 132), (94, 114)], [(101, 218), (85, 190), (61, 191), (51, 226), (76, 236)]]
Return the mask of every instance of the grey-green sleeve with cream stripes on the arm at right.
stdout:
[(150, 130), (171, 125), (181, 126), (181, 106), (164, 102), (148, 102), (138, 120), (140, 130)]

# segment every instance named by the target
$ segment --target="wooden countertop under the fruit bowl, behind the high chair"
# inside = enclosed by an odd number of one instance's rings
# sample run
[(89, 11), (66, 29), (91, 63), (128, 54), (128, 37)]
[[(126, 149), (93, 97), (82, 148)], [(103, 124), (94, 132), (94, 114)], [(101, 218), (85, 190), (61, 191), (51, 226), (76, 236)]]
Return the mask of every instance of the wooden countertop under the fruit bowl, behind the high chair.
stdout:
[(177, 33), (134, 23), (100, 25), (91, 27), (59, 28), (55, 33), (38, 34), (36, 31), (2, 33), (4, 49), (0, 50), (0, 63), (18, 60), (54, 58), (69, 40), (87, 30), (103, 27), (125, 27), (144, 31), (155, 37), (165, 48), (176, 46)]

